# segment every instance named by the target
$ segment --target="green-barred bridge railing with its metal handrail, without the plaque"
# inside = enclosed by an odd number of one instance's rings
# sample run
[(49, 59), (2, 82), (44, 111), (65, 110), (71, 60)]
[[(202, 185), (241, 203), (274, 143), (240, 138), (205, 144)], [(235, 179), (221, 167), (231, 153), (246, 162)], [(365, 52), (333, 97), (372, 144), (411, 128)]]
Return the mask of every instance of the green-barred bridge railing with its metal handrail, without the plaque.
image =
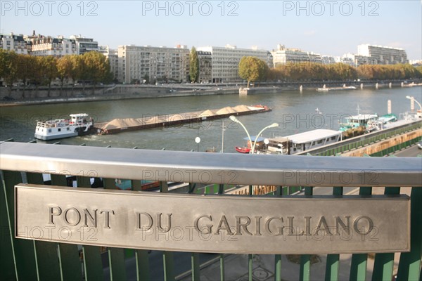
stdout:
[[(386, 197), (399, 195), (400, 187), (411, 188), (410, 251), (399, 257), (398, 280), (418, 280), (421, 276), (422, 246), (422, 178), (421, 159), (407, 157), (360, 158), (360, 157), (300, 157), (294, 155), (238, 155), (205, 152), (174, 152), (162, 150), (130, 150), (122, 148), (94, 148), (70, 145), (46, 145), (35, 143), (0, 144), (0, 273), (4, 280), (103, 280), (105, 271), (101, 247), (92, 244), (75, 244), (23, 240), (15, 237), (15, 185), (20, 183), (43, 184), (42, 174), (51, 174), (51, 184), (67, 186), (66, 176), (77, 176), (77, 186), (89, 188), (90, 178), (103, 178), (106, 189), (115, 189), (115, 178), (127, 178), (134, 183), (141, 179), (160, 181), (160, 191), (167, 191), (167, 182), (184, 181), (190, 184), (193, 198), (195, 184), (215, 183), (220, 198), (261, 198), (259, 195), (222, 195), (224, 185), (275, 185), (274, 200), (293, 200), (298, 209), (300, 198), (314, 198), (314, 187), (334, 187), (333, 200), (345, 202), (344, 187), (359, 188), (359, 195), (368, 197), (373, 187), (385, 188)], [(134, 184), (136, 185), (136, 184)], [(305, 187), (305, 196), (288, 197), (286, 187)], [(77, 191), (77, 189), (76, 189)], [(78, 191), (77, 191), (78, 192)], [(82, 192), (79, 191), (79, 192)], [(120, 191), (124, 192), (124, 191)], [(249, 194), (252, 192), (249, 192)], [(148, 192), (148, 194), (153, 194)], [(82, 193), (81, 193), (82, 195)], [(94, 194), (95, 196), (95, 194)], [(158, 196), (158, 195), (157, 195)], [(222, 197), (221, 197), (222, 196)], [(300, 200), (298, 200), (298, 198)], [(342, 201), (343, 200), (343, 201)], [(167, 202), (168, 203), (168, 202)], [(125, 204), (125, 202), (121, 202)], [(172, 202), (170, 201), (170, 204)], [(250, 201), (240, 201), (240, 206)], [(189, 206), (186, 206), (189, 208)], [(353, 207), (352, 207), (353, 208)], [(252, 210), (253, 211), (253, 210)], [(226, 214), (229, 216), (230, 214)], [(233, 214), (232, 214), (233, 215)], [(256, 217), (255, 217), (256, 218)], [(239, 221), (241, 218), (238, 218)], [(388, 221), (386, 223), (394, 223)], [(239, 222), (238, 230), (247, 230)], [(228, 230), (229, 231), (229, 230)], [(270, 230), (268, 230), (270, 231)], [(270, 231), (271, 232), (271, 231)], [(200, 249), (200, 245), (198, 246)], [(127, 255), (136, 259), (138, 280), (150, 280), (152, 266), (148, 263), (148, 249), (108, 247), (109, 274), (112, 280), (126, 280)], [(183, 249), (181, 249), (183, 251)], [(276, 250), (277, 251), (277, 250)], [(218, 251), (217, 251), (218, 252)], [(249, 280), (252, 280), (253, 258), (248, 255)], [(327, 280), (337, 280), (340, 252), (335, 247), (326, 256)], [(300, 256), (300, 280), (311, 280), (311, 255), (302, 250)], [(174, 252), (164, 249), (163, 280), (175, 279)], [(226, 280), (224, 266), (226, 252), (219, 255), (220, 279)], [(283, 270), (281, 254), (288, 254), (280, 247), (274, 255), (274, 279), (281, 280)], [(395, 253), (375, 254), (373, 268), (368, 267), (369, 254), (353, 252), (350, 264), (350, 280), (391, 280)], [(200, 279), (198, 253), (191, 254), (191, 277)], [(156, 278), (156, 277), (155, 277)], [(2, 278), (3, 279), (3, 278)]]

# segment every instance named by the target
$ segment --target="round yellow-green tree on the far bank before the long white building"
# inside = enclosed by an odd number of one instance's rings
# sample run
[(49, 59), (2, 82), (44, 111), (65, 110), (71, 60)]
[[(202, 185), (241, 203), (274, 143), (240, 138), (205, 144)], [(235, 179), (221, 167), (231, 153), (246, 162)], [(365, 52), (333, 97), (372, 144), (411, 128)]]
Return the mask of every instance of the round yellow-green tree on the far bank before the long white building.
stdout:
[(239, 62), (239, 76), (250, 82), (262, 81), (267, 78), (268, 66), (263, 60), (256, 57), (245, 56)]

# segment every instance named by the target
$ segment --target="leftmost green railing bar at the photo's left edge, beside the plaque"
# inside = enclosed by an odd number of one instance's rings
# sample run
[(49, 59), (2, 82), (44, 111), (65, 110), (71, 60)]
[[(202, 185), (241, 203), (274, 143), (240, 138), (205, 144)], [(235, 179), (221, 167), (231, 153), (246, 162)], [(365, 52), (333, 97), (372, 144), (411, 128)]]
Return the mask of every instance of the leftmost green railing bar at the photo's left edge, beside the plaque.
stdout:
[[(1, 173), (1, 171), (0, 171)], [(0, 181), (0, 272), (5, 280), (18, 280), (15, 267), (15, 253), (13, 251), (13, 234), (9, 223), (8, 204), (6, 200), (6, 187), (3, 184), (4, 175), (1, 173)]]

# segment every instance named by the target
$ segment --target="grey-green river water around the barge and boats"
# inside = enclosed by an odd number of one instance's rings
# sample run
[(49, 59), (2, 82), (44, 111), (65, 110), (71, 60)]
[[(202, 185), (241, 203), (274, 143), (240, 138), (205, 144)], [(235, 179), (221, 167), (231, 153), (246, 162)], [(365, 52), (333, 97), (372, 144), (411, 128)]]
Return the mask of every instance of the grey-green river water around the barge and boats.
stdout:
[[(421, 100), (421, 87), (393, 89), (363, 89), (352, 91), (281, 91), (279, 93), (257, 93), (249, 96), (235, 94), (222, 96), (189, 96), (178, 98), (148, 98), (134, 100), (110, 100), (85, 103), (60, 103), (46, 105), (25, 105), (0, 107), (0, 140), (13, 138), (27, 142), (34, 139), (37, 120), (67, 118), (72, 113), (88, 113), (96, 122), (108, 122), (115, 118), (139, 118), (155, 115), (171, 115), (181, 112), (217, 109), (236, 105), (267, 105), (273, 110), (267, 113), (244, 115), (238, 119), (251, 136), (274, 122), (279, 127), (264, 131), (264, 137), (288, 136), (312, 129), (338, 129), (338, 120), (349, 115), (384, 115), (388, 100), (392, 101), (392, 113), (397, 117), (410, 110), (414, 96)], [(322, 115), (317, 115), (316, 107)], [(415, 104), (418, 108), (418, 105)], [(222, 143), (223, 120), (212, 120), (200, 124), (184, 124), (167, 128), (129, 131), (108, 136), (90, 135), (65, 138), (60, 143), (117, 148), (143, 148), (160, 150), (200, 150), (213, 148), (217, 151), (235, 152), (236, 145), (243, 146), (246, 133), (238, 124), (224, 119), (224, 145)], [(200, 137), (200, 143), (195, 142)], [(38, 141), (44, 143), (43, 141)], [(49, 141), (47, 143), (54, 143)]]

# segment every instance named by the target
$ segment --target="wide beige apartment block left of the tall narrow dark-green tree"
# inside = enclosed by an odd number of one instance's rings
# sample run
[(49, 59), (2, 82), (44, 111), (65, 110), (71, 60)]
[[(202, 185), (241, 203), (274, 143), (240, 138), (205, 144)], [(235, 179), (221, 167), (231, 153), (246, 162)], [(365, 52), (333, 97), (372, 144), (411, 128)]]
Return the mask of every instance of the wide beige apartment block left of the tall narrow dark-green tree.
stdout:
[(126, 84), (147, 81), (186, 82), (189, 74), (189, 49), (153, 46), (119, 46), (118, 80)]

